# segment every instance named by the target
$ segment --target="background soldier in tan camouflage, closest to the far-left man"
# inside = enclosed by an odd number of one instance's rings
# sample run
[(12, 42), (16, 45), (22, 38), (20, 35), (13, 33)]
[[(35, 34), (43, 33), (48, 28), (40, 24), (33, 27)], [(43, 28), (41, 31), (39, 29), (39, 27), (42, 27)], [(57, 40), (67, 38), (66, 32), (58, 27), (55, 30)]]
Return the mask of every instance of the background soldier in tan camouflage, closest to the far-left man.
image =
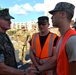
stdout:
[(17, 44), (14, 45), (16, 50), (19, 50), (19, 60), (21, 62), (25, 61), (26, 50), (29, 49), (27, 40), (28, 40), (28, 31), (25, 26), (21, 27), (21, 30), (17, 31), (14, 35), (14, 40)]

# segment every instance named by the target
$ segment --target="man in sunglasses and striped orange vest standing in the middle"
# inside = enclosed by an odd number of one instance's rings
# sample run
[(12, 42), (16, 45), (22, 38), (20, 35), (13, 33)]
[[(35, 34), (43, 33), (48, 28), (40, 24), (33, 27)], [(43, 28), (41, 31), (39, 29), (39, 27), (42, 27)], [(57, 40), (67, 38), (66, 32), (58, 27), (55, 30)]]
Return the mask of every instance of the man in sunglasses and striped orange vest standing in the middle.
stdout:
[[(40, 16), (38, 18), (38, 27), (40, 32), (33, 34), (32, 47), (30, 49), (30, 56), (33, 62), (32, 67), (37, 71), (39, 71), (38, 66), (44, 65), (51, 59), (53, 56), (53, 47), (56, 46), (59, 39), (57, 34), (48, 30), (49, 18), (47, 16)], [(39, 75), (55, 75), (54, 71), (39, 72)]]

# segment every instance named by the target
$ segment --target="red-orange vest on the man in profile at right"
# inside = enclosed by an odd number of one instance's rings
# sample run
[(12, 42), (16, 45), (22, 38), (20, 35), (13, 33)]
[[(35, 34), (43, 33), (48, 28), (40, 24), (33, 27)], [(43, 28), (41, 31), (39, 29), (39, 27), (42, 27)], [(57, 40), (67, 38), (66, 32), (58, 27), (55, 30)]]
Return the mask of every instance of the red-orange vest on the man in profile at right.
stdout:
[(57, 75), (70, 75), (69, 73), (69, 61), (66, 55), (65, 45), (68, 38), (72, 35), (76, 35), (76, 31), (68, 30), (64, 35), (62, 43), (60, 45), (59, 54), (57, 58)]

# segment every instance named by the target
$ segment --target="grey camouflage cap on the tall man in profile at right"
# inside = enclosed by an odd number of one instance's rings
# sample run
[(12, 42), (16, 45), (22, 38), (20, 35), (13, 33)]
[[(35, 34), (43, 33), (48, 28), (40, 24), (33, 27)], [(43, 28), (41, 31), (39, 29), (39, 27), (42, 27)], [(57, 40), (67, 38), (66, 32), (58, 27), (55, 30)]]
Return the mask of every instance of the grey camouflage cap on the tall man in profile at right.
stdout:
[(49, 11), (50, 14), (53, 14), (56, 11), (65, 11), (70, 14), (74, 14), (74, 8), (75, 6), (68, 2), (59, 2), (56, 4), (55, 8), (51, 11)]

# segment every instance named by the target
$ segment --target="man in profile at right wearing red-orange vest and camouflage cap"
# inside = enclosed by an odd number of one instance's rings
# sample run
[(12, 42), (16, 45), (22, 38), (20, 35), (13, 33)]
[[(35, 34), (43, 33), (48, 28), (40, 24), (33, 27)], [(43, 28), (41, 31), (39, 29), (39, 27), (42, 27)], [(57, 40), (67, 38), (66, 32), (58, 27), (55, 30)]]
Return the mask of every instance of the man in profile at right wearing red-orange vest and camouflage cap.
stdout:
[(49, 11), (53, 26), (59, 28), (61, 38), (49, 63), (38, 67), (40, 72), (56, 67), (57, 75), (76, 75), (76, 31), (70, 28), (74, 8), (71, 3), (59, 2)]

